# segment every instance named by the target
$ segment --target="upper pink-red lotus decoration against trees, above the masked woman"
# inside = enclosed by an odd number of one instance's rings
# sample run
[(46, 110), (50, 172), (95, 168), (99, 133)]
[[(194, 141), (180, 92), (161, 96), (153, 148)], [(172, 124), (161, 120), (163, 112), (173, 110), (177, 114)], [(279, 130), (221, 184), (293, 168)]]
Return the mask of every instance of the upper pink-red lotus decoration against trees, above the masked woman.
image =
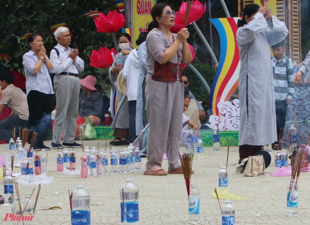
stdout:
[(118, 13), (116, 9), (113, 12), (109, 11), (106, 16), (100, 12), (99, 17), (96, 17), (94, 21), (99, 33), (115, 33), (119, 28), (126, 25), (125, 16)]

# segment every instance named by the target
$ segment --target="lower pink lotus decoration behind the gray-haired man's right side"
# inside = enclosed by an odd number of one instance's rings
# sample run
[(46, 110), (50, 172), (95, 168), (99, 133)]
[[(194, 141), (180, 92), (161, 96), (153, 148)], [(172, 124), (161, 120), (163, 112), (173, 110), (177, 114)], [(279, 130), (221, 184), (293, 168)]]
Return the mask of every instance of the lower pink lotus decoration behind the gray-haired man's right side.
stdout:
[(114, 48), (109, 50), (107, 46), (104, 46), (104, 48), (100, 47), (98, 51), (92, 50), (91, 56), (89, 55), (89, 58), (91, 60), (89, 65), (91, 67), (108, 68), (111, 63), (113, 63), (113, 58), (111, 55), (112, 52), (114, 53), (114, 55), (116, 55)]

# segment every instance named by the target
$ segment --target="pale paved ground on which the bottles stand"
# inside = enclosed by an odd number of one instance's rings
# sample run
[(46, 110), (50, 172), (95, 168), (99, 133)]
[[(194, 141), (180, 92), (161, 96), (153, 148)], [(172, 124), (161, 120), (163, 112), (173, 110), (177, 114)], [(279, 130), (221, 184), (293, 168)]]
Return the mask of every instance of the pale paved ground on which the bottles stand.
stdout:
[[(50, 141), (45, 144), (49, 145)], [(84, 145), (97, 146), (97, 141), (85, 141)], [(101, 146), (104, 146), (104, 141), (100, 141)], [(122, 148), (118, 147), (117, 150)], [(1, 155), (7, 154), (7, 149), (8, 145), (0, 145)], [(184, 147), (180, 150), (186, 151)], [(188, 197), (183, 175), (144, 176), (146, 158), (142, 158), (142, 171), (131, 174), (109, 173), (97, 178), (81, 179), (78, 175), (65, 176), (56, 172), (56, 152), (57, 150), (50, 150), (48, 153), (48, 176), (53, 176), (54, 182), (42, 185), (34, 224), (71, 224), (68, 189), (74, 191), (78, 183), (83, 183), (85, 190), (91, 194), (91, 203), (99, 204), (91, 206), (91, 224), (121, 224), (119, 188), (125, 183), (126, 177), (131, 177), (139, 187), (140, 224), (188, 224)], [(76, 149), (76, 152), (77, 158), (81, 157), (82, 149)], [(195, 174), (192, 175), (192, 183), (196, 183), (200, 191), (200, 224), (221, 224), (219, 204), (211, 196), (211, 192), (218, 186), (219, 164), (226, 163), (227, 148), (223, 147), (219, 153), (212, 153), (212, 148), (205, 148), (205, 154), (208, 155), (206, 159), (193, 162)], [(236, 224), (310, 224), (309, 173), (302, 173), (298, 180), (299, 214), (297, 217), (287, 217), (286, 186), (290, 177), (269, 176), (270, 172), (274, 172), (274, 162), (262, 177), (243, 177), (235, 173), (237, 160), (238, 148), (232, 147), (228, 159), (229, 190), (246, 197), (246, 200), (232, 201), (236, 207)], [(168, 168), (166, 160), (162, 167)], [(19, 168), (13, 170), (19, 171)], [(38, 185), (19, 185), (20, 194), (31, 193), (33, 188), (38, 188)], [(57, 195), (52, 194), (56, 191)], [(3, 194), (1, 189), (0, 194)], [(57, 206), (57, 203), (62, 204), (62, 209), (41, 210)], [(220, 203), (223, 205), (224, 200), (220, 200)], [(11, 213), (11, 207), (1, 207), (0, 224), (11, 224), (12, 222), (2, 221), (5, 213)]]

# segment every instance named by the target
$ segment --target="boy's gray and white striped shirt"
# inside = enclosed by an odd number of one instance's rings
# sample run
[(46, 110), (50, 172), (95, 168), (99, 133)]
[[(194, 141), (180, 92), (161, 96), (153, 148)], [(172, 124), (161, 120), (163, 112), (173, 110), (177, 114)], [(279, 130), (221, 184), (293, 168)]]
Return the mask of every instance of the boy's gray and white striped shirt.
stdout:
[(282, 54), (279, 62), (272, 56), (274, 99), (276, 102), (292, 99), (295, 91), (295, 83), (291, 81), (294, 78), (293, 62), (290, 58), (288, 59), (289, 63), (286, 72), (286, 58), (284, 54)]

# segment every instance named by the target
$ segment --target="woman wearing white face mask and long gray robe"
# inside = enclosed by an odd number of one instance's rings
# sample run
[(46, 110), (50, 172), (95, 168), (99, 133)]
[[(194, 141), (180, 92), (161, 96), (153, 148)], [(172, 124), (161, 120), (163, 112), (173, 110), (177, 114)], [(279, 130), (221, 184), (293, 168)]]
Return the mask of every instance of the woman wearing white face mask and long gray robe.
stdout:
[[(109, 68), (109, 76), (111, 82), (117, 81), (118, 72), (124, 68), (126, 59), (131, 53), (131, 37), (127, 33), (122, 33), (119, 37), (119, 47), (121, 52), (116, 54), (115, 59), (117, 65), (114, 63)], [(110, 141), (110, 145), (129, 145), (129, 110), (128, 99), (122, 92), (115, 88), (117, 96), (117, 110), (114, 116), (111, 129), (114, 130), (114, 140)]]

